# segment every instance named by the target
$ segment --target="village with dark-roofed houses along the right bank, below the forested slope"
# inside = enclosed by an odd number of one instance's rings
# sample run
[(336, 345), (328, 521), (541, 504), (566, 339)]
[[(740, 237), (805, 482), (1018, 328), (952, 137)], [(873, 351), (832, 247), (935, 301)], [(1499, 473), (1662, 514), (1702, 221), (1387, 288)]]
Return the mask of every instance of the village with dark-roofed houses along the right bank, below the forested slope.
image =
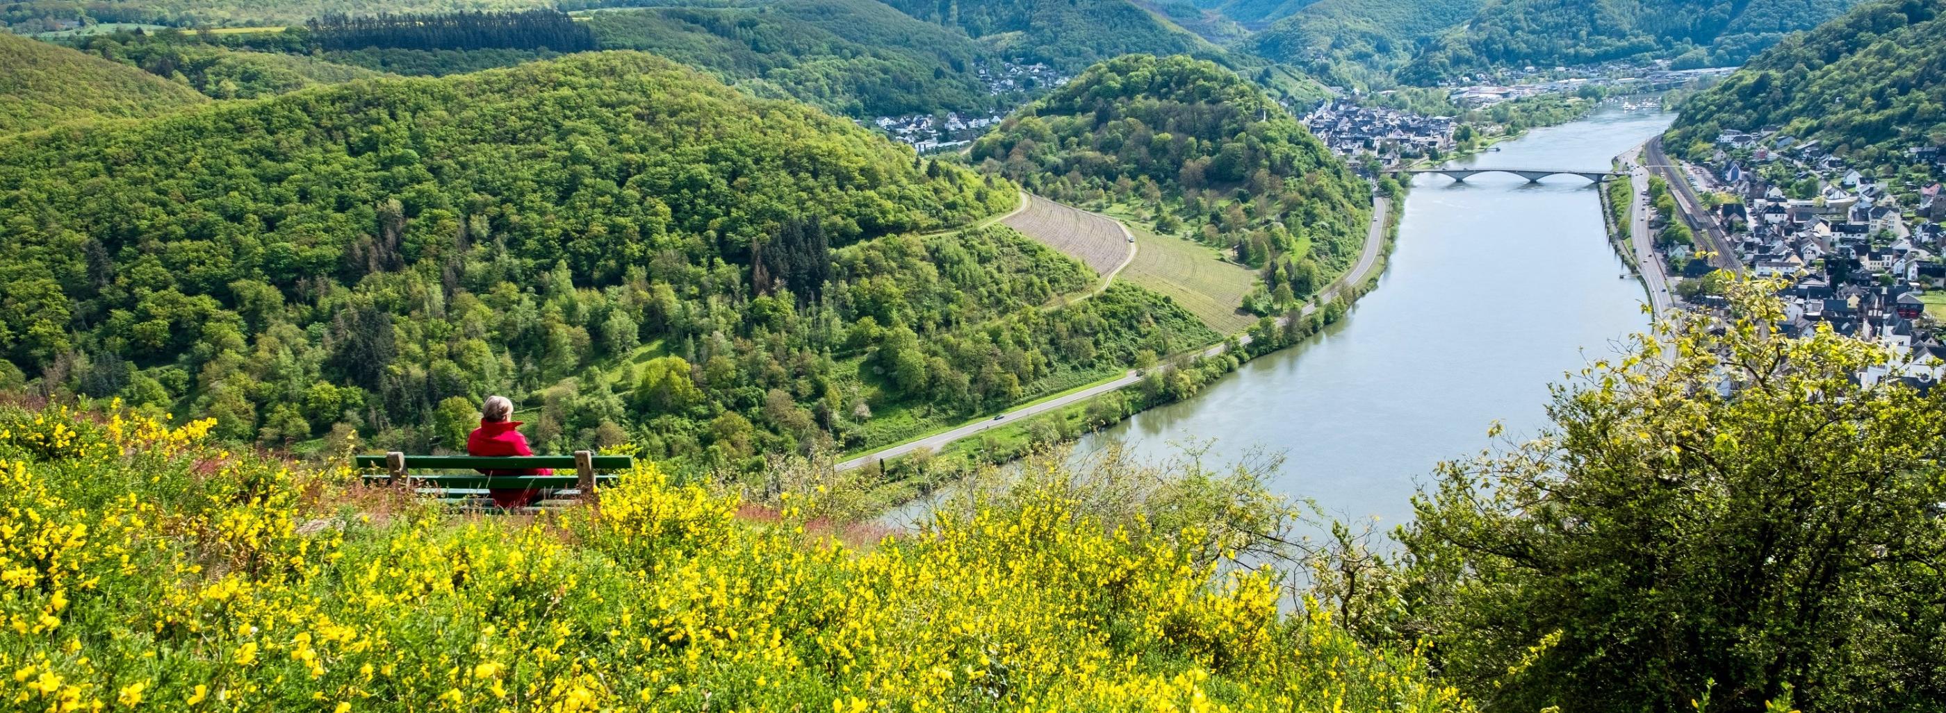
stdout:
[[(1783, 280), (1784, 332), (1820, 326), (1886, 344), (1895, 369), (1927, 390), (1946, 377), (1946, 198), (1938, 146), (1909, 146), (1899, 161), (1856, 167), (1771, 126), (1724, 130), (1703, 163), (1668, 159), (1681, 179), (1652, 179), (1656, 258), (1685, 309), (1720, 309), (1726, 272)], [(1672, 190), (1674, 188), (1674, 190)], [(1683, 196), (1676, 196), (1676, 192)], [(1681, 198), (1681, 200), (1677, 200)], [(1714, 251), (1728, 255), (1711, 255)], [(1720, 270), (1728, 268), (1728, 270)]]

